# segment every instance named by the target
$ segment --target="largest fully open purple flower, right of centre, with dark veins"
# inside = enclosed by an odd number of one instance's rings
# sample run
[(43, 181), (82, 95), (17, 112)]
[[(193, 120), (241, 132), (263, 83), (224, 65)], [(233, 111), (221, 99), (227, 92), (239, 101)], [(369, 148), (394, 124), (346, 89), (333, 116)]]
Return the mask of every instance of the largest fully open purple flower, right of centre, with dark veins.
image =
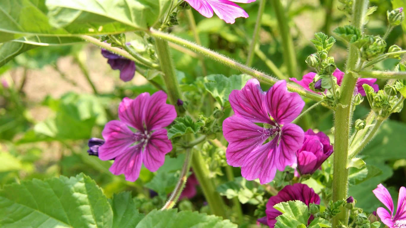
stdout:
[[(261, 184), (272, 181), (276, 169), (284, 170), (296, 160), (304, 133), (290, 122), (300, 114), (304, 101), (287, 91), (285, 80), (264, 93), (256, 79), (248, 80), (242, 90), (233, 90), (229, 101), (235, 115), (223, 122), (229, 142), (227, 163), (241, 166), (247, 180), (259, 178)], [(264, 127), (255, 123), (264, 123)]]

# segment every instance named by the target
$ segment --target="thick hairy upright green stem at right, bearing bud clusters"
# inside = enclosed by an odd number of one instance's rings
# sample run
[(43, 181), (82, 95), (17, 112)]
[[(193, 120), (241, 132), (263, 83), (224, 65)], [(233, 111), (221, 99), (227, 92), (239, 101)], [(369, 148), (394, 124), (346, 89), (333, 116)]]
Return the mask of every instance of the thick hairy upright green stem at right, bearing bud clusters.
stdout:
[[(367, 9), (368, 0), (354, 0), (352, 26), (363, 29), (363, 17)], [(333, 200), (343, 200), (348, 193), (348, 144), (350, 136), (350, 123), (352, 119), (352, 96), (357, 78), (353, 71), (359, 61), (358, 49), (348, 48), (347, 69), (340, 87), (338, 106), (335, 111), (334, 123), (334, 160), (333, 160)], [(333, 227), (347, 225), (348, 209), (341, 207), (341, 212), (333, 218)]]

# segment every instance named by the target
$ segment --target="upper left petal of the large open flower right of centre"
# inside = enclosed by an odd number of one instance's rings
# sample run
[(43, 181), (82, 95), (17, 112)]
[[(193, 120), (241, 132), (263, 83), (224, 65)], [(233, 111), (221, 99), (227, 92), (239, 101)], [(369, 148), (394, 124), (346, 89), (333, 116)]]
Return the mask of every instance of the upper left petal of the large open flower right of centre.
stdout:
[(262, 92), (256, 79), (248, 80), (241, 90), (233, 90), (229, 96), (235, 115), (253, 123), (270, 123), (270, 118), (263, 105), (264, 99), (265, 93)]

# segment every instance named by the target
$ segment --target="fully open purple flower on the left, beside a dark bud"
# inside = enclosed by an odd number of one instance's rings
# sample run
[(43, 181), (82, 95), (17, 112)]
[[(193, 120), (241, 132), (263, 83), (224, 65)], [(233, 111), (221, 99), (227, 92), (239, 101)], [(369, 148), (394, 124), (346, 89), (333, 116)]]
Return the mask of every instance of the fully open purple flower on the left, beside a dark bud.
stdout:
[[(110, 172), (124, 174), (127, 181), (135, 181), (141, 164), (151, 172), (164, 163), (165, 154), (172, 150), (168, 140), (168, 126), (176, 117), (175, 107), (166, 104), (166, 94), (144, 92), (134, 100), (125, 97), (119, 105), (119, 120), (112, 120), (102, 131), (106, 142), (99, 147), (99, 158), (115, 158)], [(132, 127), (135, 131), (130, 130)]]

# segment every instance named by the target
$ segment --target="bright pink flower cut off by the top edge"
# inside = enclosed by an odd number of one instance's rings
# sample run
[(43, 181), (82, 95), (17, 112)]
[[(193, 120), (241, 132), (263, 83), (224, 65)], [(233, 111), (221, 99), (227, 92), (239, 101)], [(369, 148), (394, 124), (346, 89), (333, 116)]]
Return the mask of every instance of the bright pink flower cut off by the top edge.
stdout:
[(250, 3), (255, 0), (185, 0), (195, 10), (205, 17), (213, 17), (213, 11), (220, 19), (233, 24), (237, 17), (248, 17), (248, 14), (237, 4)]

